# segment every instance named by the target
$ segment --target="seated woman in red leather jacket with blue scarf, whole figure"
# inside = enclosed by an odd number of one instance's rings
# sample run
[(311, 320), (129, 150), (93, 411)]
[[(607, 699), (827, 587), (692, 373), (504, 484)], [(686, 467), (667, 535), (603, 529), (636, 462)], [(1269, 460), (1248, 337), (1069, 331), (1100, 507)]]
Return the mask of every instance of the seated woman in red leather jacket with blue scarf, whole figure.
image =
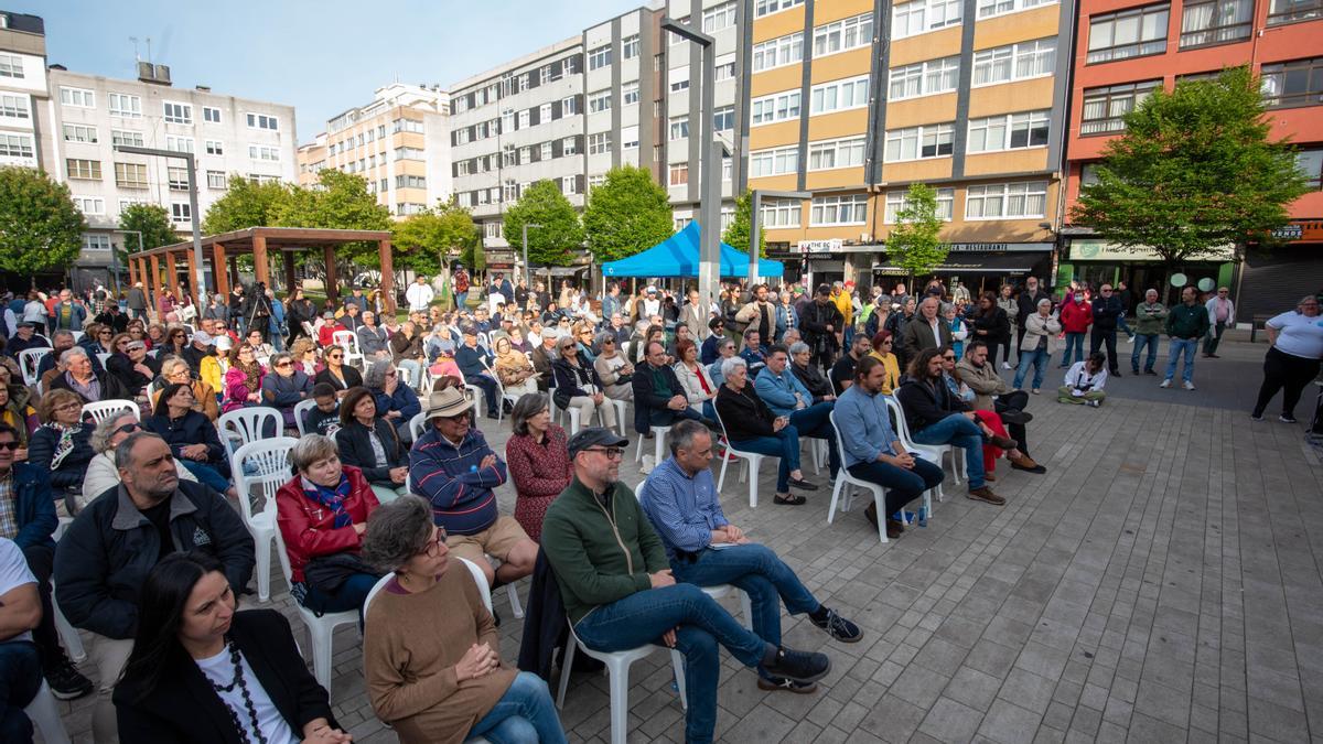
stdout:
[(363, 610), (381, 573), (359, 557), (377, 496), (335, 441), (320, 434), (290, 451), (298, 473), (275, 492), (277, 526), (290, 556), (291, 594), (312, 612)]

